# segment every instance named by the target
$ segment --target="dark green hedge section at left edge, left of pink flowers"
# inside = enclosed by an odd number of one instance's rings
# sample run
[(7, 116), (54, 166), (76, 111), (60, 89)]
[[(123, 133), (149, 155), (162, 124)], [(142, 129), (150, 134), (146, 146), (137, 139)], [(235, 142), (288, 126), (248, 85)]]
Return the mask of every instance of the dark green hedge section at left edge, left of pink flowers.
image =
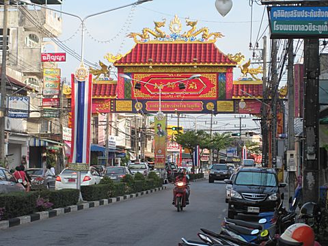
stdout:
[(12, 192), (0, 195), (0, 208), (3, 208), (1, 219), (10, 219), (29, 215), (36, 211), (36, 192)]

